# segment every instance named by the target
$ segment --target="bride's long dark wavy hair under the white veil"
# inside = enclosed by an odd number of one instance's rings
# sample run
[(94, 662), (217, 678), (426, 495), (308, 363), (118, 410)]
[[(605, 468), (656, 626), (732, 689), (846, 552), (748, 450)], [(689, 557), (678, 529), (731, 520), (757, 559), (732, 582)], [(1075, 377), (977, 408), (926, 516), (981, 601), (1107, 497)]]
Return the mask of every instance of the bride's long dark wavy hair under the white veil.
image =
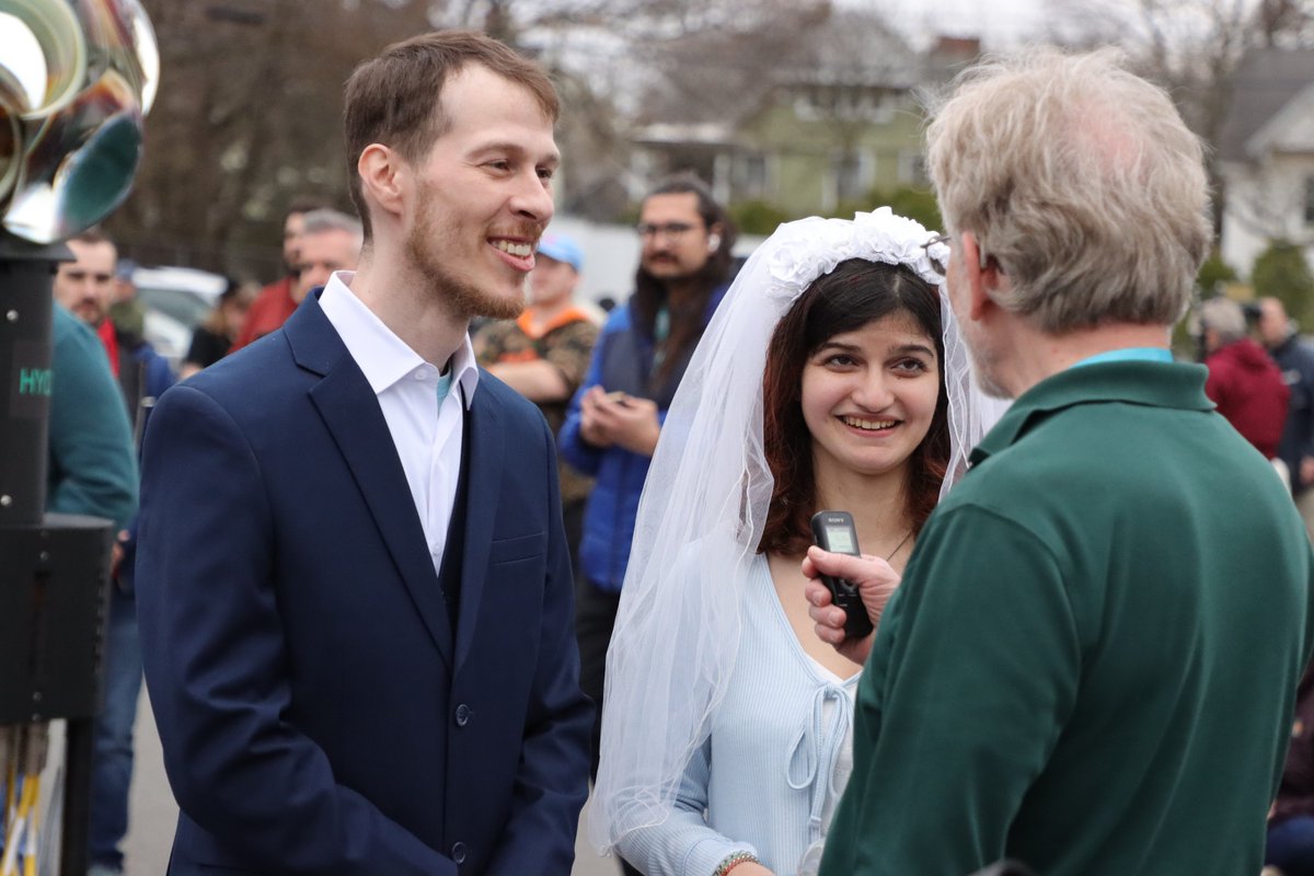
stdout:
[(819, 277), (781, 319), (766, 352), (762, 377), (762, 440), (775, 485), (758, 548), (762, 553), (798, 556), (812, 544), (816, 512), (812, 433), (803, 419), (803, 366), (825, 341), (891, 314), (908, 314), (936, 341), (940, 398), (926, 437), (908, 468), (908, 516), (913, 532), (940, 500), (949, 466), (949, 399), (945, 395), (945, 341), (940, 293), (903, 265), (865, 259), (841, 261)]

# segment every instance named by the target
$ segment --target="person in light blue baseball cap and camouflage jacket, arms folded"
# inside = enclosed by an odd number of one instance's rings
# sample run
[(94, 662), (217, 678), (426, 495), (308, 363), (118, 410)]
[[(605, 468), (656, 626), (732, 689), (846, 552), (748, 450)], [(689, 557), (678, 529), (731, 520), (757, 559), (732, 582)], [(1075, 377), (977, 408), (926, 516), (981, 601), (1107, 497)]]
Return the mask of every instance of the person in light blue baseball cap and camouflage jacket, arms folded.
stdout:
[[(528, 307), (519, 319), (487, 323), (474, 335), (480, 365), (537, 405), (553, 433), (565, 422), (566, 405), (579, 389), (598, 340), (597, 322), (574, 301), (582, 269), (578, 243), (564, 234), (544, 234), (530, 272)], [(558, 465), (566, 541), (578, 569), (583, 506), (593, 479), (565, 461)]]

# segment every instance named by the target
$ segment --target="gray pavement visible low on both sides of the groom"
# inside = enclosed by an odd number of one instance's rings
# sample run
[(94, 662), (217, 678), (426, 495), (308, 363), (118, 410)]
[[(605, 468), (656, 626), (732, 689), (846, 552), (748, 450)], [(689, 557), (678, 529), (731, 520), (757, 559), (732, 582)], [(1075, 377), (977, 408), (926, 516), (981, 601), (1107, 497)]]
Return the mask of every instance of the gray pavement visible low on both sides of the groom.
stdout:
[[(170, 793), (150, 701), (142, 691), (137, 712), (137, 767), (133, 775), (130, 825), (124, 854), (129, 876), (162, 876), (168, 863), (177, 804)], [(615, 859), (602, 859), (581, 838), (572, 876), (618, 876)]]

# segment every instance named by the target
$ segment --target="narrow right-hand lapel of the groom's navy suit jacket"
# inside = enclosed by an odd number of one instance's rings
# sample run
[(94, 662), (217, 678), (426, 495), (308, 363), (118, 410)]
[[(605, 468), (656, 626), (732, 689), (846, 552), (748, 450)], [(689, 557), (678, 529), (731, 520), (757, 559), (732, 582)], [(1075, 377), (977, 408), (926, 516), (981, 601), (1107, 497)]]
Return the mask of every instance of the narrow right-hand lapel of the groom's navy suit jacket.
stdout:
[(497, 500), (502, 491), (502, 428), (491, 387), (474, 393), (474, 405), (466, 420), (469, 431), (470, 470), (466, 481), (465, 550), (461, 561), (461, 619), (456, 625), (456, 668), (470, 650), (478, 620), (484, 579), (493, 544)]

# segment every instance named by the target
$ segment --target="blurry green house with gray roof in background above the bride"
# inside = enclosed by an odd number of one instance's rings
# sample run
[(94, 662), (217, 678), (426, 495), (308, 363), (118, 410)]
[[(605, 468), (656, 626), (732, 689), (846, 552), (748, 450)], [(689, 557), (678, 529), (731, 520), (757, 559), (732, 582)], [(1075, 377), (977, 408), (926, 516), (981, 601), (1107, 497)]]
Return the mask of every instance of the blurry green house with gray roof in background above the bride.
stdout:
[(872, 189), (929, 188), (924, 89), (980, 43), (942, 38), (920, 53), (879, 18), (844, 11), (788, 37), (752, 47), (774, 64), (736, 63), (704, 35), (669, 51), (632, 133), (631, 179), (692, 171), (727, 204), (763, 201), (792, 215), (870, 209)]

